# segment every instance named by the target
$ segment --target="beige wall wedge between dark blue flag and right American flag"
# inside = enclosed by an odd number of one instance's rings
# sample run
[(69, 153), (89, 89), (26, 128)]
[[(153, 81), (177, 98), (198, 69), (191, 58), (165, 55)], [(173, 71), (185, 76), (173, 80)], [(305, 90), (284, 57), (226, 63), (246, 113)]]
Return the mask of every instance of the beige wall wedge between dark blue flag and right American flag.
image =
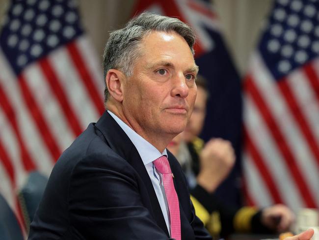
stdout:
[(241, 74), (255, 48), (273, 0), (213, 0), (224, 37)]

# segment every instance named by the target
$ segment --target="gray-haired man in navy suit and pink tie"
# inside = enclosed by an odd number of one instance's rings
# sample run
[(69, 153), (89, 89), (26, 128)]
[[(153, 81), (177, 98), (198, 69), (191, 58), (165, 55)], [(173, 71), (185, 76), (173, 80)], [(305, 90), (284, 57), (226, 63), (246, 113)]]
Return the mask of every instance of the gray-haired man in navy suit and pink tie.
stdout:
[(111, 33), (107, 111), (54, 166), (29, 239), (211, 239), (165, 149), (193, 109), (194, 41), (186, 24), (149, 13)]

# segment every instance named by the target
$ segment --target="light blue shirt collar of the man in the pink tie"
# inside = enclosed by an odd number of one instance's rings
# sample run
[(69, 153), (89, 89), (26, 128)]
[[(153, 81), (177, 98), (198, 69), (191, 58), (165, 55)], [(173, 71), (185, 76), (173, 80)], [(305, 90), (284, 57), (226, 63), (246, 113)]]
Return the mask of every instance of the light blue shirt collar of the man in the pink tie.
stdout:
[(166, 149), (161, 153), (157, 150), (152, 144), (147, 142), (143, 137), (138, 135), (131, 127), (129, 127), (124, 121), (120, 120), (115, 114), (107, 110), (111, 117), (120, 125), (123, 131), (128, 135), (136, 150), (138, 151), (144, 165), (153, 162), (155, 159), (159, 158), (162, 155), (167, 156)]

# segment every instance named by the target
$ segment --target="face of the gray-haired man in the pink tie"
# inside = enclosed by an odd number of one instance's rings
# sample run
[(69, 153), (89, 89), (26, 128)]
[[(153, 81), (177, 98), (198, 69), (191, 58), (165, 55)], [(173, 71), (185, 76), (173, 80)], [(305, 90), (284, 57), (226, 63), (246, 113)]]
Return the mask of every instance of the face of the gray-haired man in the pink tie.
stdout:
[(153, 31), (142, 41), (133, 76), (123, 83), (123, 112), (142, 137), (174, 137), (190, 118), (196, 98), (197, 66), (185, 39)]

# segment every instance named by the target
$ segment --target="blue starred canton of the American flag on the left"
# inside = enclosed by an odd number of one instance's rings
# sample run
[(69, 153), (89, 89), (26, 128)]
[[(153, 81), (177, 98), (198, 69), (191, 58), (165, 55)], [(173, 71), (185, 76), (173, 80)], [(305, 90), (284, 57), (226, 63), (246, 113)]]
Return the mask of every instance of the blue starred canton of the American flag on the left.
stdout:
[(14, 0), (0, 35), (0, 46), (18, 75), (80, 34), (77, 4), (70, 0)]

